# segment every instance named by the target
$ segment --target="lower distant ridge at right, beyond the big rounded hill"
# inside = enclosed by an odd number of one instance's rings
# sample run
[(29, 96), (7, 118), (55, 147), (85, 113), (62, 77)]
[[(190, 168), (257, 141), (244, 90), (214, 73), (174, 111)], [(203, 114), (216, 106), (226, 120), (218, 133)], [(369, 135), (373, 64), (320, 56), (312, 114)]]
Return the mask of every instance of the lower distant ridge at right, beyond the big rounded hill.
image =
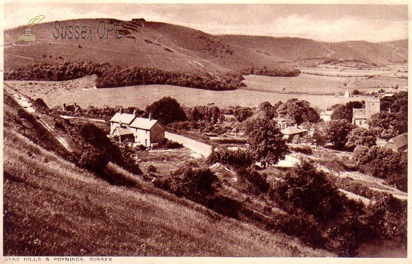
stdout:
[(367, 64), (406, 63), (408, 40), (384, 43), (347, 41), (324, 43), (305, 38), (273, 38), (265, 36), (222, 35), (220, 39), (233, 49), (248, 49), (260, 57), (273, 60), (299, 62), (302, 60), (360, 60)]

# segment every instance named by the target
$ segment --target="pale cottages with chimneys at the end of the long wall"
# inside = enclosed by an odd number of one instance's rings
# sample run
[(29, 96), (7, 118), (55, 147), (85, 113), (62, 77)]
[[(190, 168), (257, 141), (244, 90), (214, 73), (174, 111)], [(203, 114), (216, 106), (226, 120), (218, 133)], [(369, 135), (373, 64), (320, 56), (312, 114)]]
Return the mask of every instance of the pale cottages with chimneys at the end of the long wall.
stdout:
[(119, 142), (130, 139), (135, 145), (155, 147), (165, 139), (165, 127), (157, 120), (137, 117), (133, 114), (117, 112), (110, 119), (110, 137), (118, 139)]

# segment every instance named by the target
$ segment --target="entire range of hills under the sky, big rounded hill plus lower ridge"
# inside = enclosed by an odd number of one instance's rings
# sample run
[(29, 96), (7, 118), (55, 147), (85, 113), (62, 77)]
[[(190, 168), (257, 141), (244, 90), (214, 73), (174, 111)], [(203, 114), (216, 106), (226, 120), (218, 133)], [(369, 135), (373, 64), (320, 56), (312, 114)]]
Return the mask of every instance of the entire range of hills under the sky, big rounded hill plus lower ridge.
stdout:
[[(41, 23), (33, 28), (35, 43), (16, 43), (25, 27), (4, 32), (5, 69), (36, 62), (91, 60), (110, 62), (122, 67), (137, 65), (165, 71), (217, 72), (267, 67), (288, 69), (279, 62), (310, 59), (361, 60), (368, 64), (407, 62), (407, 40), (389, 43), (345, 42), (321, 43), (304, 38), (271, 38), (262, 36), (214, 36), (196, 29), (143, 19), (124, 21), (119, 32), (124, 36), (98, 37), (98, 25), (111, 19), (77, 19), (60, 21), (60, 37), (54, 23)], [(93, 26), (92, 39), (61, 39), (62, 27)], [(103, 24), (102, 24), (103, 25)], [(102, 25), (100, 35), (102, 35)], [(113, 27), (113, 24), (110, 24)], [(81, 29), (80, 29), (81, 30)], [(74, 33), (74, 30), (72, 29)], [(65, 34), (63, 34), (65, 35)], [(89, 35), (89, 29), (87, 29)]]

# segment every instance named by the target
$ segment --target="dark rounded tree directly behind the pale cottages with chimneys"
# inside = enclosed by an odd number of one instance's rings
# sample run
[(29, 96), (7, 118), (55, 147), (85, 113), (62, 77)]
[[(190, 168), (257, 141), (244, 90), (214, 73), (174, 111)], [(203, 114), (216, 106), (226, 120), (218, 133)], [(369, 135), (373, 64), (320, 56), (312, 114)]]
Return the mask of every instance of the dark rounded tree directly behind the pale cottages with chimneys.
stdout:
[(185, 121), (186, 115), (181, 105), (172, 97), (163, 97), (150, 106), (146, 106), (146, 114), (152, 114), (154, 119), (164, 125), (174, 121)]

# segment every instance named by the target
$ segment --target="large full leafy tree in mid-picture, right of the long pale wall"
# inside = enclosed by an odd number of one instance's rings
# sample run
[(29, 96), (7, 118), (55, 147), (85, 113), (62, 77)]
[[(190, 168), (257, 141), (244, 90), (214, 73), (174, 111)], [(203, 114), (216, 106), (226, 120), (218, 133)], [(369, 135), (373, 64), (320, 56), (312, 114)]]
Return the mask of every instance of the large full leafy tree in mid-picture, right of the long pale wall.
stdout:
[(249, 149), (255, 161), (260, 161), (266, 167), (276, 164), (288, 152), (286, 140), (279, 130), (277, 122), (272, 119), (259, 118), (249, 123)]

